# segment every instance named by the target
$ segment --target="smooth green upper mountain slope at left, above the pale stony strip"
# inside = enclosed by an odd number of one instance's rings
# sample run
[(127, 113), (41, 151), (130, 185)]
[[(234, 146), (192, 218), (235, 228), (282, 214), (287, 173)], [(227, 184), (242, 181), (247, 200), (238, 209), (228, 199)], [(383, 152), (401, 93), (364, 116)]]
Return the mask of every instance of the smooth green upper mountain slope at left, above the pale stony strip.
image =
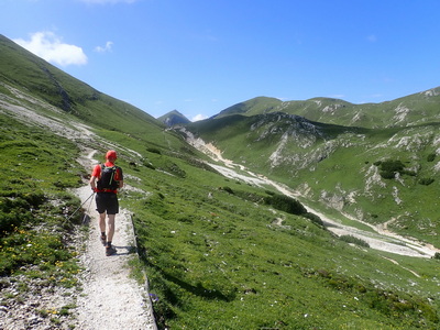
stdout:
[[(89, 124), (142, 134), (162, 129), (146, 112), (63, 73), (0, 35), (0, 79), (3, 84), (47, 101)], [(10, 91), (2, 89), (7, 95)]]

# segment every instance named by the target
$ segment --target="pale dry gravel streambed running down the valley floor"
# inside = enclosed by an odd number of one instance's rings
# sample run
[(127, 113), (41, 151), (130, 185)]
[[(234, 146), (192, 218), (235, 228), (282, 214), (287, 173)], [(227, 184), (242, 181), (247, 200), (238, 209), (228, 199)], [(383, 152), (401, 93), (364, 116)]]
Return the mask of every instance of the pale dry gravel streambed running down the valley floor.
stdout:
[[(190, 132), (186, 130), (183, 130), (183, 132), (186, 134), (186, 140), (189, 144), (208, 155), (212, 161), (222, 164), (209, 164), (222, 175), (229, 178), (243, 180), (250, 185), (255, 185), (260, 187), (273, 186), (283, 195), (294, 198), (300, 197), (298, 193), (293, 191), (282, 184), (273, 182), (267, 177), (252, 173), (243, 165), (234, 164), (232, 161), (223, 158), (221, 151), (211, 143), (205, 143), (200, 138), (196, 139)], [(322, 212), (312, 209), (305, 202), (301, 201), (301, 204), (306, 207), (307, 211), (317, 215), (323, 221), (326, 228), (332, 233), (337, 234), (338, 237), (352, 235), (359, 238), (369, 243), (371, 249), (417, 257), (432, 257), (436, 253), (440, 252), (439, 249), (436, 249), (431, 244), (425, 244), (417, 240), (404, 238), (392, 232), (389, 229), (387, 229), (386, 224), (372, 226), (356, 219), (351, 219), (371, 228), (371, 231), (361, 230), (354, 227), (344, 226), (341, 222), (329, 218)], [(350, 217), (348, 217), (346, 215), (344, 215), (344, 217), (350, 219)], [(278, 221), (277, 223), (282, 226), (282, 222)]]

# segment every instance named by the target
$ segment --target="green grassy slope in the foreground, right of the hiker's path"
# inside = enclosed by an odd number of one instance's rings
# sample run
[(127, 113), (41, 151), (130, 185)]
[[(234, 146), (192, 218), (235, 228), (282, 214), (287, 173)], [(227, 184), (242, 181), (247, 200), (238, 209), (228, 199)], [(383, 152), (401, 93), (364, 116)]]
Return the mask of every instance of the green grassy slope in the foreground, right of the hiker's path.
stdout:
[(175, 163), (185, 177), (140, 170), (140, 187), (151, 195), (125, 199), (136, 210), (162, 327), (437, 327), (437, 307), (427, 304), (437, 293), (437, 261), (350, 246), (264, 204), (270, 191)]

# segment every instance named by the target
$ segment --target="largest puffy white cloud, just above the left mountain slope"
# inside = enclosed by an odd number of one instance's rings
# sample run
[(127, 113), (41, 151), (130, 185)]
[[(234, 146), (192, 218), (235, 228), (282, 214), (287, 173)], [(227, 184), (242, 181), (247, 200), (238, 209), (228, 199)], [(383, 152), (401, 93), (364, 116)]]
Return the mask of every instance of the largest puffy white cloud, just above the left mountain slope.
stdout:
[(61, 66), (87, 64), (87, 56), (81, 47), (63, 43), (53, 32), (36, 32), (31, 35), (30, 41), (16, 38), (14, 42), (53, 64)]

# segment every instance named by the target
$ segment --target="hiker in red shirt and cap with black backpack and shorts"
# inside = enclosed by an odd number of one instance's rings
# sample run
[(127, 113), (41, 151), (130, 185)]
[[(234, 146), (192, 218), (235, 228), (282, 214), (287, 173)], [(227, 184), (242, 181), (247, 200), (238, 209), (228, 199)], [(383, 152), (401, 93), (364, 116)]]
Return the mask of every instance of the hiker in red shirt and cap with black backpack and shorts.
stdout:
[[(118, 158), (117, 152), (109, 150), (106, 154), (106, 163), (95, 166), (91, 173), (90, 187), (96, 193), (97, 211), (99, 212), (99, 228), (101, 242), (106, 246), (106, 255), (117, 253), (111, 245), (114, 234), (114, 218), (119, 213), (118, 189), (123, 187), (122, 168), (114, 165)], [(108, 232), (106, 234), (106, 213), (108, 217)]]

